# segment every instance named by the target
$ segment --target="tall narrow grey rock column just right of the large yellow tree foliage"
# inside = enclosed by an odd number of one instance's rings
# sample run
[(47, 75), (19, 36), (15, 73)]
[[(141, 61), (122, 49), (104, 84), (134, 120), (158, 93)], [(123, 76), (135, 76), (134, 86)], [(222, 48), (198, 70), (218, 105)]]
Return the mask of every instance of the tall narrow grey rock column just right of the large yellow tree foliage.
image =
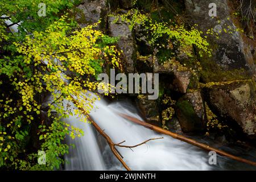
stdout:
[(110, 36), (118, 36), (118, 47), (123, 50), (125, 59), (123, 65), (126, 73), (135, 72), (136, 46), (133, 32), (129, 29), (129, 24), (123, 22), (114, 23), (115, 18), (109, 18)]

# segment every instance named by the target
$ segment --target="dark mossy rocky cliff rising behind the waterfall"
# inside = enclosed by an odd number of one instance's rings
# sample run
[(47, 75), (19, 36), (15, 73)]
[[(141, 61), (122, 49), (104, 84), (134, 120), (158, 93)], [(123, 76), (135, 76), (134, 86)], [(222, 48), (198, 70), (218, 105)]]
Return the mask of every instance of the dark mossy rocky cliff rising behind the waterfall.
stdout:
[[(215, 17), (209, 16), (210, 3), (217, 6)], [(169, 49), (152, 47), (142, 27), (130, 28), (131, 22), (110, 16), (125, 14), (133, 8), (149, 14), (156, 22), (185, 24), (188, 29), (195, 26), (207, 39), (212, 56), (199, 56), (199, 49), (191, 46), (185, 50), (190, 56), (184, 54), (184, 49), (176, 49), (175, 57), (168, 59)], [(117, 45), (123, 51), (125, 73), (159, 73), (158, 100), (133, 95), (148, 122), (166, 125), (178, 119), (183, 132), (205, 133), (209, 126), (215, 125), (205, 108), (209, 105), (210, 112), (220, 121), (216, 123), (217, 128), (234, 124), (247, 137), (255, 139), (255, 40), (241, 31), (241, 22), (234, 16), (230, 1), (85, 0), (78, 9), (81, 14), (77, 20), (81, 26), (101, 19), (99, 28), (119, 37)], [(166, 96), (176, 104), (163, 104)], [(170, 107), (175, 114), (169, 113), (170, 119), (164, 120), (162, 114)]]

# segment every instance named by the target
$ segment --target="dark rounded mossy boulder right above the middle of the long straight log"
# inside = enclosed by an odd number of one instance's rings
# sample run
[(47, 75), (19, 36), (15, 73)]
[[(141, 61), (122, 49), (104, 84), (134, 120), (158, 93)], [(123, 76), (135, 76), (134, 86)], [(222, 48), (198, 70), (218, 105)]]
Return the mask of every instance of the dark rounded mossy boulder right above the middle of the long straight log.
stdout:
[(184, 133), (203, 131), (206, 126), (205, 107), (201, 92), (189, 92), (176, 104), (175, 113)]

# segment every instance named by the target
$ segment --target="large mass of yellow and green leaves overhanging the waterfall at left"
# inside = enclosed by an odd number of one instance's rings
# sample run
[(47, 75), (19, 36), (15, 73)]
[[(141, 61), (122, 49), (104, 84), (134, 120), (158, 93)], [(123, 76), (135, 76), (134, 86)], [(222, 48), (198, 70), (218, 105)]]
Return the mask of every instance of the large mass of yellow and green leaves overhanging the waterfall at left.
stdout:
[[(56, 7), (61, 7), (58, 2)], [(101, 72), (104, 63), (119, 67), (120, 53), (113, 46), (117, 38), (95, 30), (97, 24), (77, 29), (68, 15), (49, 23), (45, 30), (43, 26), (48, 22), (40, 23), (42, 26), (38, 25), (24, 39), (20, 38), (22, 35), (14, 39), (6, 32), (6, 37), (1, 36), (2, 40), (18, 41), (11, 49), (6, 48), (8, 44), (3, 46), (5, 51), (0, 57), (0, 168), (59, 168), (69, 147), (63, 143), (65, 137), (82, 135), (65, 118), (69, 114), (80, 116), (80, 107), (87, 113), (92, 109), (99, 98), (90, 97), (85, 89), (96, 89), (96, 82), (89, 78)], [(26, 28), (32, 30), (29, 24)], [(43, 102), (47, 98), (49, 101)], [(44, 113), (47, 116), (43, 117)], [(39, 148), (34, 147), (35, 143)], [(46, 152), (46, 165), (37, 163), (38, 149)]]

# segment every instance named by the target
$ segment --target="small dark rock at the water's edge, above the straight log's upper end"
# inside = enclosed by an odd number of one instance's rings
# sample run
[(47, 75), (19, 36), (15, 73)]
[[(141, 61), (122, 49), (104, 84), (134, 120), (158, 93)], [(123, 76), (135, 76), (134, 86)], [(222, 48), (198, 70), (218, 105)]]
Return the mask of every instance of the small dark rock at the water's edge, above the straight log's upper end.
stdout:
[(158, 102), (156, 100), (148, 100), (146, 94), (141, 94), (137, 97), (136, 104), (147, 122), (153, 125), (161, 125), (159, 122)]

